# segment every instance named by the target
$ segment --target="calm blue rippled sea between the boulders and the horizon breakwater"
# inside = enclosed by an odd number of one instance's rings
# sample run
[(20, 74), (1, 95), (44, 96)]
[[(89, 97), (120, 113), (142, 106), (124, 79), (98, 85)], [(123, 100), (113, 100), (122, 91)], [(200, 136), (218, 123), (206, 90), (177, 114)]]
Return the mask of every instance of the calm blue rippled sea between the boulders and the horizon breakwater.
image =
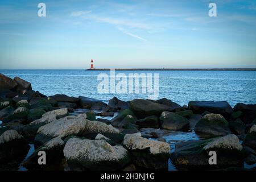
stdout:
[[(108, 102), (113, 96), (121, 100), (147, 98), (147, 94), (100, 94), (97, 86), (100, 73), (110, 71), (84, 70), (0, 70), (6, 76), (18, 76), (30, 81), (34, 90), (51, 96), (86, 96)], [(159, 73), (159, 98), (166, 97), (180, 105), (188, 101), (228, 101), (234, 106), (238, 102), (256, 104), (255, 71), (115, 71), (124, 73)]]

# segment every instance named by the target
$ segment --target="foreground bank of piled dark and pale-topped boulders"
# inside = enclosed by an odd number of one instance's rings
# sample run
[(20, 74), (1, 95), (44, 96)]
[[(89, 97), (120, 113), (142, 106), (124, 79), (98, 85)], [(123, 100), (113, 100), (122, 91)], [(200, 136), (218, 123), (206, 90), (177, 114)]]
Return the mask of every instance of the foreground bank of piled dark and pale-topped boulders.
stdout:
[[(82, 112), (73, 115), (77, 109)], [(0, 74), (0, 120), (0, 169), (18, 169), (20, 163), (30, 170), (168, 169), (169, 159), (177, 169), (243, 169), (245, 162), (256, 163), (256, 104), (180, 106), (167, 98), (116, 97), (105, 104), (83, 96), (47, 97), (22, 78)], [(191, 130), (204, 139), (171, 148), (163, 138)], [(35, 151), (26, 157), (31, 143)], [(46, 152), (46, 165), (38, 164), (39, 151)], [(209, 151), (216, 151), (217, 165), (209, 164)]]

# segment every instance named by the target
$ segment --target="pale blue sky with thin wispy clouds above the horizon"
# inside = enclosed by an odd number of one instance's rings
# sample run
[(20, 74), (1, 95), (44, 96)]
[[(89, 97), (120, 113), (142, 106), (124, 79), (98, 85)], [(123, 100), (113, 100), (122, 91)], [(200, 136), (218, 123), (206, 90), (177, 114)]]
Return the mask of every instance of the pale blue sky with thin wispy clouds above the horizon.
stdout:
[(256, 67), (255, 32), (256, 1), (1, 0), (0, 69)]

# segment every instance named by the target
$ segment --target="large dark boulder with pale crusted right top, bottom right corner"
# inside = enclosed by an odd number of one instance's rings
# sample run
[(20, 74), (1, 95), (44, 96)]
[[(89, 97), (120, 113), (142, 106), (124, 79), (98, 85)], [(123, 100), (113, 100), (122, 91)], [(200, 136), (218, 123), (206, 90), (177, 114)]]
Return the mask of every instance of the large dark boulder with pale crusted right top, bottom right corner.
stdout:
[[(209, 151), (216, 151), (217, 165), (209, 164)], [(242, 145), (233, 134), (208, 140), (189, 140), (176, 144), (171, 160), (179, 169), (242, 167)]]

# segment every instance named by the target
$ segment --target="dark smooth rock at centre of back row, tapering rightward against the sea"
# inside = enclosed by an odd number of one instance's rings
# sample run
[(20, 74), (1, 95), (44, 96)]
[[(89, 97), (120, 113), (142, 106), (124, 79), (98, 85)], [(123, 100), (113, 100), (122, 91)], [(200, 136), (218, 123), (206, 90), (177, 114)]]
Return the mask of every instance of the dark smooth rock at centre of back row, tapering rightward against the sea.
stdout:
[(159, 116), (163, 111), (174, 111), (175, 107), (159, 104), (156, 101), (135, 99), (130, 101), (130, 110), (137, 118), (143, 119), (150, 115)]

